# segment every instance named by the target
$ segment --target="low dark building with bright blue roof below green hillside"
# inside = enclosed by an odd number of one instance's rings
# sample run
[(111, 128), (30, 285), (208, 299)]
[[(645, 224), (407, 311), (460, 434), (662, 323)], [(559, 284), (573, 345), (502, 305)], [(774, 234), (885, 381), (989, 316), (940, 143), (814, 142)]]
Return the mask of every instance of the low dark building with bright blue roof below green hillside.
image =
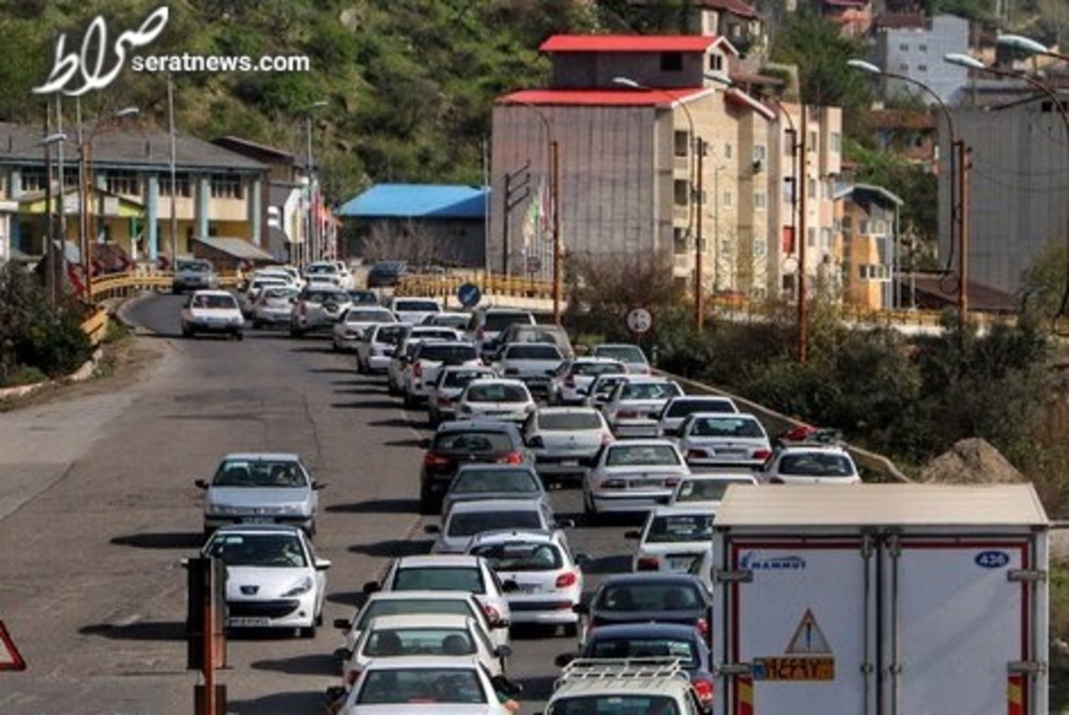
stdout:
[(487, 200), (479, 186), (376, 184), (337, 216), (347, 255), (484, 268)]

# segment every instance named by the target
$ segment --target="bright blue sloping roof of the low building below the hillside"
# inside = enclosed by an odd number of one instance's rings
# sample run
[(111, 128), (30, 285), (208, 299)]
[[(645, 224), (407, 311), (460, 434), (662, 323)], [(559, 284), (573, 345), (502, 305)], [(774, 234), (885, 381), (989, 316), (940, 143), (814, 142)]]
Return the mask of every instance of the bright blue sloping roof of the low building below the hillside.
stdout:
[(490, 189), (451, 184), (376, 184), (343, 203), (341, 218), (482, 218)]

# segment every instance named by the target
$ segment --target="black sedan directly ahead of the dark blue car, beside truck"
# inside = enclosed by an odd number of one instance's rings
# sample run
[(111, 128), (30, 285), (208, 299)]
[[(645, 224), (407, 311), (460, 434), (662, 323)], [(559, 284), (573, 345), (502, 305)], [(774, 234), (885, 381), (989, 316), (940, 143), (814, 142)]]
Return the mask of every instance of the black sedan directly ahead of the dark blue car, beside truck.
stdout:
[(711, 643), (712, 606), (712, 595), (696, 576), (642, 572), (609, 576), (575, 610), (585, 617), (584, 642), (594, 627), (655, 622), (697, 628)]

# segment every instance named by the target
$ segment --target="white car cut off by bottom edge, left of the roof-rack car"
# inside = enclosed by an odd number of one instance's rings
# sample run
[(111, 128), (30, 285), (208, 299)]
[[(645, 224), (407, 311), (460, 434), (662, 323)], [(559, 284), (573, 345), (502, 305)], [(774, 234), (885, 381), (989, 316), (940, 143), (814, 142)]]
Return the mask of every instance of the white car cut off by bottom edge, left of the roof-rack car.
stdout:
[(474, 655), (378, 658), (368, 664), (334, 712), (338, 715), (510, 715), (512, 711), (497, 695), (501, 678), (487, 672)]

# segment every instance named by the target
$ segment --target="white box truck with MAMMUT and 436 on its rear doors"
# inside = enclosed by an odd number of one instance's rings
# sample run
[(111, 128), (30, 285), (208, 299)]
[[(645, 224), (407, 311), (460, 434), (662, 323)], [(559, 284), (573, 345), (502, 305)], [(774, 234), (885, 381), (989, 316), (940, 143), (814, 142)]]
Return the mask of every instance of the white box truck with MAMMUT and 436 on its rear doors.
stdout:
[(1031, 484), (731, 485), (713, 528), (717, 715), (1048, 713)]

